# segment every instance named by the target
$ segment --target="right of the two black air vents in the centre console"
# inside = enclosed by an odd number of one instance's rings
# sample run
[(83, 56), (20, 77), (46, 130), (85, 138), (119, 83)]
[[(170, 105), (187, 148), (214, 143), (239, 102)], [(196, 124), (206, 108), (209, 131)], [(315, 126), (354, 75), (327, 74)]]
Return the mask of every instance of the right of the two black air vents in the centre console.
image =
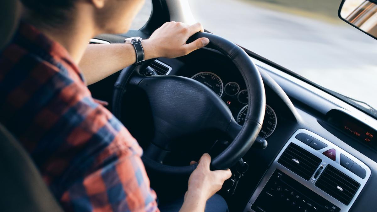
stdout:
[(319, 176), (316, 186), (327, 194), (348, 205), (356, 194), (360, 183), (343, 174), (331, 165), (327, 165)]

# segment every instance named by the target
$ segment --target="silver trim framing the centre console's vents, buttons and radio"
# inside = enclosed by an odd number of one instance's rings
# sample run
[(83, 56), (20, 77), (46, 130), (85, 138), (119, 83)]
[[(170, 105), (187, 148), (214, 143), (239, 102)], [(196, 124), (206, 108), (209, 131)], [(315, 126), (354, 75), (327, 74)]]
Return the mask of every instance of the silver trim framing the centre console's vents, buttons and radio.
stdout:
[[(318, 140), (322, 141), (323, 143), (327, 144), (328, 146), (325, 147), (325, 148), (323, 148), (323, 149), (320, 149), (320, 150), (316, 151), (315, 149), (311, 148), (310, 146), (302, 143), (301, 141), (299, 141), (299, 140), (297, 140), (295, 138), (296, 135), (299, 134), (299, 133), (301, 133), (301, 132), (304, 132), (304, 133), (306, 133), (308, 135), (311, 135), (314, 138), (317, 138)], [(299, 175), (295, 174), (294, 172), (290, 171), (289, 169), (287, 169), (286, 167), (284, 167), (280, 163), (277, 163), (277, 160), (280, 158), (280, 156), (283, 154), (283, 152), (285, 151), (285, 149), (288, 147), (288, 145), (290, 143), (297, 144), (298, 146), (302, 147), (303, 149), (305, 149), (305, 150), (309, 151), (310, 153), (316, 155), (317, 157), (321, 158), (322, 159), (322, 163), (321, 164), (323, 166), (326, 166), (327, 164), (330, 164), (331, 166), (334, 166), (336, 169), (340, 170), (344, 174), (348, 175), (348, 177), (350, 177), (353, 180), (355, 180), (358, 183), (360, 183), (359, 189), (357, 190), (355, 196), (352, 198), (352, 200), (350, 201), (350, 203), (348, 205), (345, 205), (345, 204), (341, 203), (340, 201), (336, 200), (334, 197), (331, 197), (326, 192), (324, 192), (323, 190), (321, 190), (317, 186), (315, 186), (314, 184), (316, 183), (316, 179), (311, 178), (310, 181), (307, 181), (304, 178), (300, 177)], [(329, 149), (336, 149), (336, 161), (333, 161), (330, 158), (328, 158), (328, 157), (326, 157), (325, 155), (322, 154), (322, 152), (325, 152), (325, 151), (327, 151)], [(363, 167), (363, 169), (365, 169), (365, 171), (366, 171), (366, 177), (364, 179), (362, 179), (359, 176), (357, 176), (356, 174), (354, 174), (351, 171), (349, 171), (348, 169), (346, 169), (345, 167), (341, 166), (340, 165), (340, 161), (339, 161), (340, 154), (345, 155), (349, 159), (353, 160), (355, 163), (359, 164), (359, 166)], [(279, 169), (280, 171), (284, 172), (288, 176), (292, 177), (294, 180), (296, 180), (299, 183), (303, 184), (304, 186), (308, 187), (310, 190), (313, 190), (316, 194), (320, 195), (321, 197), (325, 198), (329, 202), (333, 203), (334, 205), (336, 205), (337, 207), (340, 208), (341, 212), (348, 211), (352, 207), (352, 204), (355, 202), (356, 198), (359, 196), (360, 192), (363, 190), (363, 187), (365, 186), (366, 182), (369, 180), (369, 177), (371, 176), (371, 170), (369, 169), (369, 167), (366, 166), (362, 161), (360, 161), (359, 159), (357, 159), (353, 155), (351, 155), (348, 152), (344, 151), (343, 149), (341, 149), (340, 147), (338, 147), (335, 144), (331, 143), (330, 141), (328, 141), (328, 140), (320, 137), (319, 135), (314, 134), (313, 132), (310, 132), (310, 131), (305, 130), (305, 129), (299, 129), (288, 140), (288, 142), (285, 144), (285, 146), (283, 147), (283, 149), (279, 152), (279, 154), (275, 158), (275, 160), (272, 163), (271, 167), (267, 170), (266, 174), (264, 175), (264, 177), (262, 178), (261, 182), (257, 186), (255, 192), (253, 193), (253, 195), (251, 196), (250, 200), (248, 201), (251, 205), (255, 202), (255, 200), (257, 199), (257, 197), (261, 193), (262, 189), (267, 184), (267, 181), (270, 179), (270, 177), (274, 173), (275, 169)], [(322, 170), (324, 170), (324, 169), (322, 169)], [(248, 204), (248, 205), (250, 205), (250, 204)], [(250, 207), (246, 207), (244, 209), (244, 212), (254, 212), (254, 210), (251, 210)]]

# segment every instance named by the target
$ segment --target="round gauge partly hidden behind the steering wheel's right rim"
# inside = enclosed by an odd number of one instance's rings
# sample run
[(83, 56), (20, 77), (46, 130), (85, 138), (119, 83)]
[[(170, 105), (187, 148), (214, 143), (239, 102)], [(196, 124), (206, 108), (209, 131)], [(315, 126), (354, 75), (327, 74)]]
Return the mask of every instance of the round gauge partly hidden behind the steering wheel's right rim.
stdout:
[[(243, 125), (245, 122), (246, 112), (247, 112), (248, 105), (243, 107), (241, 111), (239, 111), (237, 116), (237, 123)], [(259, 136), (263, 138), (267, 138), (270, 136), (275, 128), (276, 128), (276, 114), (275, 111), (266, 104), (266, 112), (264, 114), (263, 124), (261, 132), (259, 132)]]

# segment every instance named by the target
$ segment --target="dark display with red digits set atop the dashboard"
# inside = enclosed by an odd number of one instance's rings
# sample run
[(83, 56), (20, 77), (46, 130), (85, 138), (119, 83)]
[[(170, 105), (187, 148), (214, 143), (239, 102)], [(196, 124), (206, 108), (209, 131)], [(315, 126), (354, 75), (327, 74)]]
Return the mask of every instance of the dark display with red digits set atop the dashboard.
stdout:
[(377, 149), (377, 132), (375, 129), (342, 111), (331, 110), (326, 116), (327, 121), (340, 131), (369, 147)]

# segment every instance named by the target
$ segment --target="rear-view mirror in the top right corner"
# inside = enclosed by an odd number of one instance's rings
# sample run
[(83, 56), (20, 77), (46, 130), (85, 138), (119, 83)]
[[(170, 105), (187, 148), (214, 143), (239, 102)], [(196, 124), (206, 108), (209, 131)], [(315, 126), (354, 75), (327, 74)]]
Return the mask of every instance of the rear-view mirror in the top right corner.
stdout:
[(343, 0), (340, 19), (377, 39), (377, 0)]

